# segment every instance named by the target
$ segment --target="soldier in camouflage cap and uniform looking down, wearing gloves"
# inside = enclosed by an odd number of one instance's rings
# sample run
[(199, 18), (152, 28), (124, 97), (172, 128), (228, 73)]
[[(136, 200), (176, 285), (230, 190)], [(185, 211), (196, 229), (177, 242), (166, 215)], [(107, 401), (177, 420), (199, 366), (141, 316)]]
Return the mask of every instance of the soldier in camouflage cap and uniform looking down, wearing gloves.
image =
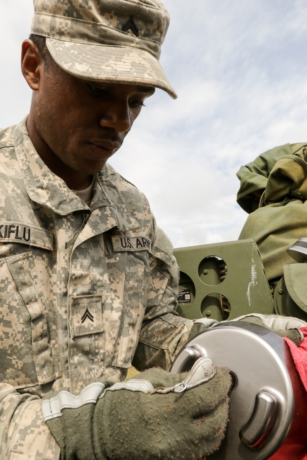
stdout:
[[(106, 163), (155, 87), (176, 98), (158, 62), (168, 12), (34, 6), (30, 113), (0, 131), (0, 457), (203, 457), (224, 435), (228, 370), (167, 372), (203, 323), (176, 314), (172, 246)], [(144, 372), (124, 382), (132, 364)]]

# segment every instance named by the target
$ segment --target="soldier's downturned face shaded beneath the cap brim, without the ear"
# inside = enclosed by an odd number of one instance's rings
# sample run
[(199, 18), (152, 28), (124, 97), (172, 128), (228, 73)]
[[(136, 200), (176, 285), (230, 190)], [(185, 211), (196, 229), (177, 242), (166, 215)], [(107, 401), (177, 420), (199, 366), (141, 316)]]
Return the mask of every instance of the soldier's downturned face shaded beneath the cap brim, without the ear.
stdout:
[(47, 68), (40, 64), (38, 76), (29, 117), (32, 135), (41, 138), (38, 153), (51, 169), (53, 153), (77, 173), (97, 173), (104, 166), (154, 92), (152, 87), (81, 80), (53, 60)]

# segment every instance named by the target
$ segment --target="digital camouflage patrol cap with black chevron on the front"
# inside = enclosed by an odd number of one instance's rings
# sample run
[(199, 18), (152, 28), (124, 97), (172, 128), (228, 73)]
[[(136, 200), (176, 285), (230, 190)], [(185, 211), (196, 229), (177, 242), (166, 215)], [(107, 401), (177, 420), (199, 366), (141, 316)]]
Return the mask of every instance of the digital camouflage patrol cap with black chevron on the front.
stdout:
[(156, 86), (177, 94), (161, 64), (169, 14), (159, 0), (34, 0), (31, 33), (78, 78)]

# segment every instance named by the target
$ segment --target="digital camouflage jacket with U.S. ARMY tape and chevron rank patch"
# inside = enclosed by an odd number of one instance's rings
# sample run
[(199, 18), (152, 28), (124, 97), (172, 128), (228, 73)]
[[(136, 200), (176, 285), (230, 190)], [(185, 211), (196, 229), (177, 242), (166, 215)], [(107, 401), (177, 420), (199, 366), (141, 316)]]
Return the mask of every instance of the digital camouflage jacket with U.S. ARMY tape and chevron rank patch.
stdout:
[(40, 398), (168, 369), (192, 322), (145, 196), (106, 165), (87, 207), (25, 121), (0, 132), (0, 458), (58, 459)]

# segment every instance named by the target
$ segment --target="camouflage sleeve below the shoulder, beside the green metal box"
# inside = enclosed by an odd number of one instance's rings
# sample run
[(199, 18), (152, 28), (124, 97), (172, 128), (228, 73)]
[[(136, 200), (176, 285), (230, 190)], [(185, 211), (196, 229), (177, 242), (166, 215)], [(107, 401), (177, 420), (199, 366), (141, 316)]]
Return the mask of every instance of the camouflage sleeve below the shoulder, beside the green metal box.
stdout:
[(191, 320), (178, 316), (178, 265), (172, 243), (154, 222), (151, 280), (145, 317), (133, 365), (145, 370), (161, 367), (168, 370), (174, 357), (188, 339)]

